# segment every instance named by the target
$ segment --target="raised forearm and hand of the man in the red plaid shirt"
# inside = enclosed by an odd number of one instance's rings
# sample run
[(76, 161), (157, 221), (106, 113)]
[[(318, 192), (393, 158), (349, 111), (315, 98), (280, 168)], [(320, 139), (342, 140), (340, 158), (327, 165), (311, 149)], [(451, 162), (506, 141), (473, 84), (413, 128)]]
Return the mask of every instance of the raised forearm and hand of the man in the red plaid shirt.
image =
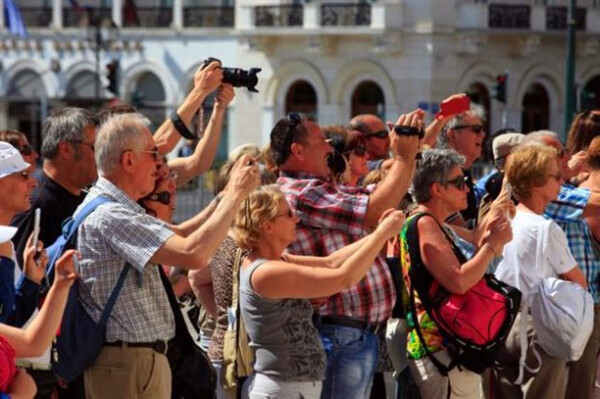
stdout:
[[(423, 111), (416, 110), (409, 114), (401, 115), (396, 125), (421, 128), (423, 125)], [(415, 158), (420, 148), (417, 136), (399, 136), (392, 129), (390, 131), (390, 148), (393, 152), (393, 161), (388, 174), (369, 196), (369, 205), (365, 215), (366, 227), (377, 225), (379, 218), (386, 209), (397, 208), (412, 183), (415, 171)]]

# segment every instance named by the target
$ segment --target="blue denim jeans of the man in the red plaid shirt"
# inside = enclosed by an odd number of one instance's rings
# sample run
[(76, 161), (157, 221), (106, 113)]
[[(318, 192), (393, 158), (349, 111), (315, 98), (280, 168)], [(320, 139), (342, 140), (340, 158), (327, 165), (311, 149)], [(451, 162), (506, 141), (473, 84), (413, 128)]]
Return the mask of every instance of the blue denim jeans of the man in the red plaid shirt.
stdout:
[(318, 324), (317, 329), (327, 355), (321, 398), (368, 398), (379, 357), (377, 336), (330, 324)]

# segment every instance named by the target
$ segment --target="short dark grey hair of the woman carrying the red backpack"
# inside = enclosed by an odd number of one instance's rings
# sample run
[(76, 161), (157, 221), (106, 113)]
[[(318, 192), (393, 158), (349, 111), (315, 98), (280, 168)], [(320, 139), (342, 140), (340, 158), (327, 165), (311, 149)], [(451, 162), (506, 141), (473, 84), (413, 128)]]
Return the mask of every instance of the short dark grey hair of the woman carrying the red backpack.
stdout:
[(448, 173), (456, 166), (461, 167), (465, 157), (448, 148), (434, 148), (421, 153), (417, 171), (413, 178), (411, 194), (419, 204), (431, 199), (429, 191), (433, 183), (446, 184)]

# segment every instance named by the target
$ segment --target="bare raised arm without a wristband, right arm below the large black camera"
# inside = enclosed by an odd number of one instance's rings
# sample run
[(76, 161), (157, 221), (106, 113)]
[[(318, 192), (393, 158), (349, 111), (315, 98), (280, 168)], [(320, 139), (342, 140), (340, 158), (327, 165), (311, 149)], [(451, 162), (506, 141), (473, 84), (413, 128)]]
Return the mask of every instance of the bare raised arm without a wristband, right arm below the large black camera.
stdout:
[(183, 186), (194, 177), (206, 172), (212, 165), (221, 140), (225, 111), (234, 97), (235, 92), (231, 85), (221, 85), (208, 126), (194, 153), (189, 157), (175, 158), (168, 162), (169, 169), (177, 174), (177, 187)]

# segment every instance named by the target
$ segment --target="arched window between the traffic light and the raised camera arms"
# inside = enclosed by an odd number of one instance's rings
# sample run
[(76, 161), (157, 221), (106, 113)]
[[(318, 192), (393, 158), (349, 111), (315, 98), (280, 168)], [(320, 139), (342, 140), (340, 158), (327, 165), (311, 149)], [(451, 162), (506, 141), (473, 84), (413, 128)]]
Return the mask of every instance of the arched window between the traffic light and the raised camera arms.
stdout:
[(165, 100), (165, 89), (160, 79), (152, 72), (144, 72), (136, 80), (129, 102), (157, 128), (165, 119)]

